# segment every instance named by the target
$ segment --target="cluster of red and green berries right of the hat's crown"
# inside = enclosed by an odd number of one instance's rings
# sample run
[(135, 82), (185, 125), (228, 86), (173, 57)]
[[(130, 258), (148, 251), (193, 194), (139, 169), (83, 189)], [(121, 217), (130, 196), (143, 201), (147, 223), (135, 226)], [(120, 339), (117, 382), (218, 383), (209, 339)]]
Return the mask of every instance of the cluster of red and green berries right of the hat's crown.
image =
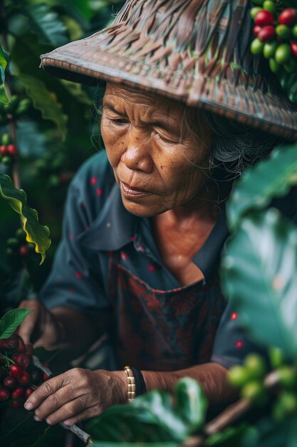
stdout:
[(286, 8), (276, 0), (253, 0), (251, 9), (256, 39), (251, 52), (269, 59), (273, 73), (297, 73), (297, 9)]

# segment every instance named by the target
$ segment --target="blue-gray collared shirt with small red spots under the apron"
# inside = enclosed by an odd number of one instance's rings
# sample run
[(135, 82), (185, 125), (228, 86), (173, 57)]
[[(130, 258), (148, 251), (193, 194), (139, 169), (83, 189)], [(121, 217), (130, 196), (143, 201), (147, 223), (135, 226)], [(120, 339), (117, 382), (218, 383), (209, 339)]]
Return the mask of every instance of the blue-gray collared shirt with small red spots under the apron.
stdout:
[[(193, 258), (204, 274), (204, 284), (219, 266), (228, 235), (223, 210)], [(41, 292), (43, 303), (48, 308), (68, 306), (92, 315), (104, 312), (110, 306), (110, 252), (119, 253), (120, 263), (152, 288), (167, 291), (181, 286), (162, 263), (150, 219), (134, 216), (123, 206), (113, 169), (102, 151), (83, 164), (69, 187), (63, 237)], [(247, 352), (256, 349), (236, 319), (237, 314), (227, 304), (211, 357), (226, 367), (241, 363)]]

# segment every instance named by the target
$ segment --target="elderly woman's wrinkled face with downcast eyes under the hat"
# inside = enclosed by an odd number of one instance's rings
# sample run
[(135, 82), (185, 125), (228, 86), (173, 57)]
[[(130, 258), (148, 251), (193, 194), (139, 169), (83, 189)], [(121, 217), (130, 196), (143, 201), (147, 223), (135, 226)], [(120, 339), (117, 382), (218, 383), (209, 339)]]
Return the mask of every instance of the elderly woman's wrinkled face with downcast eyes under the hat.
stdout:
[(176, 101), (107, 84), (101, 132), (132, 214), (156, 216), (204, 194), (211, 136), (195, 116), (194, 124), (194, 113)]

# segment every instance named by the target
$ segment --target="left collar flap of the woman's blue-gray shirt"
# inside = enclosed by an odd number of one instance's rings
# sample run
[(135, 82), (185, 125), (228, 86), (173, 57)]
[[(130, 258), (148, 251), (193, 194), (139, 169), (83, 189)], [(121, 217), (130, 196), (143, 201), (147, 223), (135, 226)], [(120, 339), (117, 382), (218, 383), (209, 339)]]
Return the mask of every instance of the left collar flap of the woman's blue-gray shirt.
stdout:
[(98, 218), (78, 236), (78, 241), (94, 250), (119, 250), (131, 242), (137, 219), (125, 209), (118, 184), (114, 184)]

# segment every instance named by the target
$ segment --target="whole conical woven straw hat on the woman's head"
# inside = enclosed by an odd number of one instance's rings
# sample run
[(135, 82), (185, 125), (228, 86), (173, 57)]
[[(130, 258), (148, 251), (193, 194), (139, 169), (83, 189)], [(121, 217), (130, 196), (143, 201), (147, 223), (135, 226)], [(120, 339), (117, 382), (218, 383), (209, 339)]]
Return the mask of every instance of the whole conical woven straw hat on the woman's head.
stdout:
[(135, 86), (297, 139), (297, 106), (251, 54), (249, 0), (129, 0), (113, 25), (41, 56), (56, 76)]

